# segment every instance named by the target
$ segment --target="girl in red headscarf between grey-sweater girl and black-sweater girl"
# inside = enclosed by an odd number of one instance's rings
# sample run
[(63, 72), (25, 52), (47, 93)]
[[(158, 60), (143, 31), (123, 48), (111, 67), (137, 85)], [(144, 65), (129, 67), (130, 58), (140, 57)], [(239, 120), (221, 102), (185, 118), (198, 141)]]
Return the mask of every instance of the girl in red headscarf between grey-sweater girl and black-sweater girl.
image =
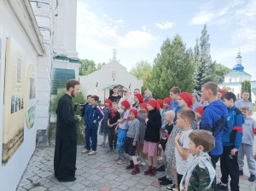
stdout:
[(148, 160), (146, 158), (146, 154), (143, 153), (143, 146), (144, 146), (144, 136), (146, 130), (145, 119), (148, 118), (148, 108), (147, 103), (140, 104), (140, 112), (137, 114), (137, 119), (140, 121), (140, 136), (138, 141), (138, 149), (137, 153), (140, 155), (140, 160), (138, 161), (139, 165), (147, 165)]

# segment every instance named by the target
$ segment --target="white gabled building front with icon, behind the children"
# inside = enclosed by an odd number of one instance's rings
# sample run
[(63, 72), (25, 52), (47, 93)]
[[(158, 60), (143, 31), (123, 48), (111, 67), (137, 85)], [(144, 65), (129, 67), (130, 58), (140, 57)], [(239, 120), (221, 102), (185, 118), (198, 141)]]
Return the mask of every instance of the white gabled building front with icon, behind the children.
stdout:
[(133, 76), (118, 61), (111, 61), (96, 72), (80, 76), (80, 83), (87, 95), (99, 96), (102, 103), (110, 96), (113, 86), (118, 86), (120, 90), (122, 87), (142, 90), (143, 87), (143, 80)]

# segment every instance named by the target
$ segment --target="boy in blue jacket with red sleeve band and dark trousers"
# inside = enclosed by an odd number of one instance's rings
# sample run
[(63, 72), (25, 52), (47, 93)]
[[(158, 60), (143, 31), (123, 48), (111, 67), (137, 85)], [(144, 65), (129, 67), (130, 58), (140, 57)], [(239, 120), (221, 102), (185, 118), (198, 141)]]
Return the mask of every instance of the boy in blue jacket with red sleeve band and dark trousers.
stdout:
[(242, 124), (244, 123), (241, 111), (236, 108), (236, 95), (227, 92), (221, 96), (221, 100), (228, 107), (228, 128), (222, 136), (223, 153), (220, 156), (221, 182), (217, 184), (219, 190), (227, 190), (229, 176), (231, 178), (231, 191), (239, 191), (239, 167), (237, 162), (237, 151), (241, 145)]

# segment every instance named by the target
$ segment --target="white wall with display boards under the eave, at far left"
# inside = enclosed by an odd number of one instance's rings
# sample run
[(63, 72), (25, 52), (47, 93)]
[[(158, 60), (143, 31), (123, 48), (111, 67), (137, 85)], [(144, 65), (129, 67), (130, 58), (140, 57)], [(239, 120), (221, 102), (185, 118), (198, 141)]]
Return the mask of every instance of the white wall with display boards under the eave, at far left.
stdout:
[[(41, 61), (47, 61), (47, 56), (45, 55), (46, 49), (44, 48), (43, 37), (38, 29), (37, 20), (32, 11), (30, 1), (24, 0), (12, 0), (5, 1), (0, 0), (0, 189), (1, 190), (15, 190), (18, 183), (20, 182), (20, 177), (22, 177), (23, 172), (26, 169), (26, 165), (31, 159), (32, 153), (36, 148), (36, 137), (38, 125), (40, 125), (37, 120), (38, 107), (37, 102), (40, 102), (40, 78), (38, 77), (37, 70), (41, 66)], [(11, 54), (11, 53), (19, 53)], [(16, 57), (18, 57), (18, 61)], [(15, 57), (15, 61), (12, 61)], [(21, 58), (21, 61), (19, 61)], [(17, 64), (17, 70), (13, 72), (9, 71), (9, 66), (15, 66)], [(20, 67), (24, 68), (21, 69)], [(20, 75), (13, 75), (14, 73), (21, 73)], [(10, 79), (8, 76), (13, 75)], [(17, 78), (17, 79), (16, 79)], [(32, 81), (26, 82), (26, 79)], [(25, 79), (25, 80), (24, 80)], [(16, 82), (15, 82), (16, 81)], [(20, 85), (19, 85), (20, 83)], [(31, 83), (31, 84), (30, 84)], [(15, 84), (15, 85), (14, 85)], [(30, 84), (30, 85), (29, 85)], [(20, 86), (20, 87), (19, 87)], [(26, 87), (32, 87), (32, 94), (27, 95), (28, 91)], [(11, 87), (11, 89), (10, 89)], [(19, 90), (23, 91), (19, 92)], [(7, 101), (9, 97), (6, 92), (12, 91), (12, 95), (18, 98), (21, 96), (22, 101), (20, 104), (20, 109), (11, 107), (11, 111), (8, 108), (11, 102)], [(26, 109), (25, 100), (29, 104), (35, 104), (37, 107), (32, 116), (33, 123), (26, 123)], [(24, 101), (24, 102), (23, 102)], [(4, 104), (3, 104), (4, 103)], [(17, 105), (16, 105), (17, 106)], [(24, 107), (25, 106), (25, 107)], [(23, 111), (22, 111), (23, 110)], [(25, 111), (24, 111), (25, 110)], [(21, 115), (20, 115), (21, 114)], [(17, 116), (20, 115), (20, 116)], [(5, 123), (9, 119), (9, 123)], [(9, 136), (7, 131), (15, 130), (15, 122), (21, 121), (22, 128), (19, 131), (22, 139), (18, 145), (16, 136)], [(19, 138), (19, 137), (18, 137)], [(15, 149), (9, 148), (6, 150), (6, 140), (12, 139), (12, 144)], [(8, 157), (6, 158), (5, 153)]]

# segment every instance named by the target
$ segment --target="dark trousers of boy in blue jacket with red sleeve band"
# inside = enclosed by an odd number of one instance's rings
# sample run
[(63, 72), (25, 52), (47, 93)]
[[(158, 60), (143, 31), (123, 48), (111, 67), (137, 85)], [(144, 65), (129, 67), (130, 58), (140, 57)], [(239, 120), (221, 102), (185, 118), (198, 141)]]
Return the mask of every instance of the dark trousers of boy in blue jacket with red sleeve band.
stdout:
[(232, 156), (230, 159), (230, 151), (234, 146), (224, 146), (223, 153), (220, 156), (220, 171), (221, 171), (221, 182), (228, 183), (229, 176), (231, 178), (230, 188), (231, 191), (239, 191), (239, 167), (237, 162), (237, 155)]

